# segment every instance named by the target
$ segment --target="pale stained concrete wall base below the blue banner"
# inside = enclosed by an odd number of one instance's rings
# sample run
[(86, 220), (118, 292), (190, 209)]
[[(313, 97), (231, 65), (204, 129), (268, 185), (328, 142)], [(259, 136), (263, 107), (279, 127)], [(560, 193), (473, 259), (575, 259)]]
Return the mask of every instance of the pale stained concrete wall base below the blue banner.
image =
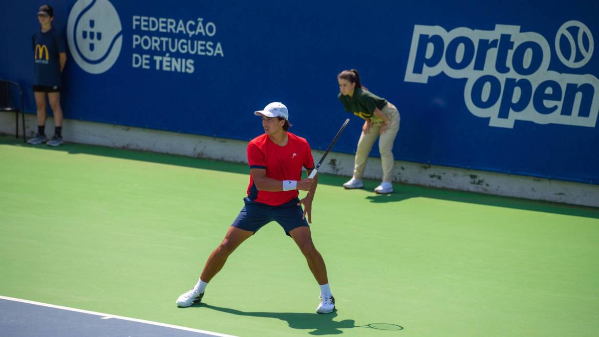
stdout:
[[(27, 136), (31, 137), (37, 132), (35, 115), (25, 114), (25, 120)], [(0, 114), (0, 133), (14, 135), (14, 123), (14, 114)], [(46, 134), (51, 136), (53, 132), (53, 119), (50, 118), (46, 123)], [(247, 163), (247, 142), (233, 139), (69, 119), (65, 119), (63, 123), (62, 135), (65, 142)], [(322, 151), (313, 150), (314, 160), (319, 160), (322, 153)], [(329, 153), (320, 167), (320, 172), (350, 177), (353, 172), (353, 155)], [(368, 160), (364, 176), (371, 179), (382, 177), (379, 158), (371, 157)], [(406, 184), (443, 189), (599, 207), (599, 186), (570, 181), (426, 165), (401, 160), (395, 162), (394, 180)]]

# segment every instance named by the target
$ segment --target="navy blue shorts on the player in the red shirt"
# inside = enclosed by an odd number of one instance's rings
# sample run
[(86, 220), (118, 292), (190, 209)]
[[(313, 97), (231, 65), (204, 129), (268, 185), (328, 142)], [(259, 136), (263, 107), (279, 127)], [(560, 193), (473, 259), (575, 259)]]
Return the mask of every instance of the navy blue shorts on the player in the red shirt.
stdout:
[(301, 206), (298, 206), (298, 198), (279, 206), (260, 204), (259, 202), (253, 202), (249, 198), (243, 198), (243, 201), (246, 205), (241, 208), (239, 215), (237, 215), (237, 218), (231, 224), (233, 227), (251, 230), (256, 233), (258, 229), (261, 229), (262, 226), (270, 221), (277, 221), (287, 235), (297, 227), (310, 227), (308, 226), (308, 221), (305, 218), (302, 219), (304, 211)]

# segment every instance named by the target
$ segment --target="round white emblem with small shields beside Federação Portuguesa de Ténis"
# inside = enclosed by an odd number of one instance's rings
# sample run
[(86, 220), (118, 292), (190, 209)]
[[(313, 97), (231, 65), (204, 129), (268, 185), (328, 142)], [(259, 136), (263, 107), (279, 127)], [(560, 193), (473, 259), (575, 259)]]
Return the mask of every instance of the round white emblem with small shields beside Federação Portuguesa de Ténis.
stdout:
[(77, 65), (102, 74), (114, 65), (123, 44), (119, 13), (108, 0), (78, 0), (69, 14), (66, 38)]

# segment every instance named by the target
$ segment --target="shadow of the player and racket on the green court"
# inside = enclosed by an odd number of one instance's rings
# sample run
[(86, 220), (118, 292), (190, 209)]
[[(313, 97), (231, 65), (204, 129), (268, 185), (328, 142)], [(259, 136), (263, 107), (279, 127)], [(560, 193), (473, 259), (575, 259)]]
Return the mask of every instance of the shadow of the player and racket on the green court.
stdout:
[[(240, 316), (276, 318), (277, 320), (286, 321), (288, 326), (292, 329), (313, 330), (308, 333), (316, 336), (338, 335), (343, 333), (343, 330), (341, 329), (352, 329), (355, 327), (378, 330), (403, 330), (403, 327), (396, 324), (378, 323), (379, 325), (367, 324), (365, 326), (356, 326), (354, 320), (335, 321), (334, 318), (337, 317), (336, 311), (325, 315), (311, 314), (308, 312), (247, 312), (231, 308), (222, 308), (220, 306), (205, 303), (193, 305), (193, 308), (207, 308)], [(380, 327), (383, 326), (388, 328), (381, 329)]]

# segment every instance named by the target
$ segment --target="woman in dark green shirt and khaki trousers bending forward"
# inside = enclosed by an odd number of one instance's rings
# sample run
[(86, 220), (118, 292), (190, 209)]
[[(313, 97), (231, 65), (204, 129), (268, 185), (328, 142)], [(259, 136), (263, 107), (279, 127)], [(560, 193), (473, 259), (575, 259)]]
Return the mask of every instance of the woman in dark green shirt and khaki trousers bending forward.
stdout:
[(365, 120), (356, 150), (353, 176), (343, 184), (343, 187), (346, 189), (364, 187), (362, 175), (366, 168), (368, 154), (374, 141), (380, 136), (379, 152), (383, 166), (383, 181), (374, 192), (391, 193), (395, 163), (392, 150), (395, 136), (400, 130), (400, 113), (395, 105), (363, 88), (356, 69), (342, 71), (337, 75), (337, 81), (340, 91), (338, 98), (345, 110)]

